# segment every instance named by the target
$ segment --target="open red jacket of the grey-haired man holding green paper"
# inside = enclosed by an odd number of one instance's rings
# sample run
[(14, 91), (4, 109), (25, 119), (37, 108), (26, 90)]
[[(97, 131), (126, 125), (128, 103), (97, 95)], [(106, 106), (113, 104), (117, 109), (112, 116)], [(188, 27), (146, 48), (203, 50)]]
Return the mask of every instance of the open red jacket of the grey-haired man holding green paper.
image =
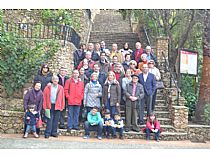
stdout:
[[(44, 92), (43, 92), (43, 109), (51, 109), (51, 101), (50, 101), (51, 86), (52, 85), (48, 85), (44, 89)], [(64, 89), (61, 85), (58, 84), (55, 110), (62, 111), (64, 109), (64, 106), (65, 106)]]

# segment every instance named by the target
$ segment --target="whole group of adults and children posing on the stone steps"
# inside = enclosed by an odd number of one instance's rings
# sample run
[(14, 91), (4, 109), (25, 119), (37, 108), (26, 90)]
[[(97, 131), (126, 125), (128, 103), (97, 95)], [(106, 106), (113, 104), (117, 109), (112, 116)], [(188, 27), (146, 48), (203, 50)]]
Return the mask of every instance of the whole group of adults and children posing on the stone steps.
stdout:
[[(58, 75), (53, 75), (44, 64), (34, 78), (33, 88), (24, 97), (26, 114), (33, 114), (31, 119), (25, 116), (24, 138), (28, 137), (30, 126), (38, 137), (40, 129), (35, 126), (41, 119), (46, 123), (45, 138), (58, 137), (58, 126), (67, 128), (68, 132), (80, 130), (80, 120), (84, 122), (85, 139), (89, 138), (91, 130), (97, 131), (98, 139), (102, 139), (103, 132), (107, 138), (116, 138), (119, 132), (119, 138), (123, 139), (124, 130), (139, 132), (138, 124), (145, 124), (146, 105), (147, 139), (154, 132), (159, 140), (160, 124), (153, 119), (156, 81), (161, 79), (155, 67), (157, 59), (150, 46), (146, 50), (141, 48), (140, 42), (135, 46), (132, 51), (128, 43), (120, 50), (116, 43), (112, 44), (112, 50), (107, 49), (104, 41), (95, 46), (81, 44), (73, 53), (74, 70), (70, 78), (65, 67), (60, 68)], [(121, 118), (123, 105), (125, 127)], [(87, 114), (83, 120), (84, 111)], [(67, 127), (64, 125), (66, 112)]]

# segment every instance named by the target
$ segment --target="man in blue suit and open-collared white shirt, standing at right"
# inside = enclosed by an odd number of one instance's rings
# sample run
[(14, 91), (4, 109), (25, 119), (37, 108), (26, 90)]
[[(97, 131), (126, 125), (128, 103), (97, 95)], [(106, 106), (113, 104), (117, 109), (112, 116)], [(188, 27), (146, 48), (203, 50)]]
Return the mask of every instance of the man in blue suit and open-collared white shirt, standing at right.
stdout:
[(156, 80), (155, 76), (149, 72), (148, 65), (143, 65), (143, 73), (139, 75), (139, 83), (144, 87), (144, 98), (140, 103), (139, 108), (139, 123), (140, 125), (144, 124), (144, 107), (146, 104), (147, 107), (147, 116), (152, 112), (152, 96), (156, 89)]

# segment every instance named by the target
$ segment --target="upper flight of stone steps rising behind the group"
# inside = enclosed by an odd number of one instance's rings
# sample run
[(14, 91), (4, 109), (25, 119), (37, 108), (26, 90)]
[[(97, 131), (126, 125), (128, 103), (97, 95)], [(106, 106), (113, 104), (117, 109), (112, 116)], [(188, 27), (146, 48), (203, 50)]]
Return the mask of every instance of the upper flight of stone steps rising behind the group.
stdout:
[(123, 20), (122, 15), (116, 10), (101, 10), (97, 14), (90, 32), (89, 42), (105, 41), (106, 47), (111, 49), (113, 43), (118, 44), (118, 49), (128, 42), (131, 49), (139, 41), (138, 35), (133, 33), (129, 20)]

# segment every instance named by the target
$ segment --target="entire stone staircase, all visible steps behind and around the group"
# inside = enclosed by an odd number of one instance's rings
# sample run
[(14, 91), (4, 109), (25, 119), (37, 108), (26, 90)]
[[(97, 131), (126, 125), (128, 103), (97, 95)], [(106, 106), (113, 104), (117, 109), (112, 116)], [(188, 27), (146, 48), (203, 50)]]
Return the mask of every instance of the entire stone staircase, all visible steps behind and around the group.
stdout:
[[(128, 20), (123, 21), (120, 13), (116, 11), (101, 11), (99, 15), (96, 15), (93, 28), (90, 34), (89, 42), (100, 42), (104, 40), (106, 45), (110, 48), (112, 43), (117, 43), (119, 48), (122, 47), (124, 42), (130, 42), (131, 47), (134, 48), (135, 42), (139, 41), (137, 35), (131, 32), (131, 26)], [(164, 63), (161, 63), (162, 66), (159, 67), (162, 79), (164, 83), (167, 83), (169, 78), (165, 77), (164, 74), (165, 68)], [(161, 140), (186, 140), (187, 133), (179, 132), (172, 126), (172, 120), (170, 116), (169, 105), (166, 103), (167, 93), (166, 89), (158, 90), (157, 92), (157, 100), (155, 106), (155, 113), (160, 121), (161, 128), (163, 132), (160, 135)], [(121, 116), (125, 119), (124, 114), (124, 106), (121, 108)], [(146, 114), (146, 110), (145, 110)], [(139, 126), (140, 130), (142, 130), (145, 125)], [(65, 136), (84, 136), (84, 127), (83, 123), (80, 124), (80, 131), (71, 131), (67, 132), (66, 129), (59, 129), (60, 135)], [(43, 129), (41, 130), (43, 133)], [(92, 132), (92, 136), (93, 136)], [(142, 131), (140, 132), (124, 132), (124, 136), (127, 139), (145, 139), (146, 135)], [(151, 139), (154, 139), (154, 135), (151, 134)]]

